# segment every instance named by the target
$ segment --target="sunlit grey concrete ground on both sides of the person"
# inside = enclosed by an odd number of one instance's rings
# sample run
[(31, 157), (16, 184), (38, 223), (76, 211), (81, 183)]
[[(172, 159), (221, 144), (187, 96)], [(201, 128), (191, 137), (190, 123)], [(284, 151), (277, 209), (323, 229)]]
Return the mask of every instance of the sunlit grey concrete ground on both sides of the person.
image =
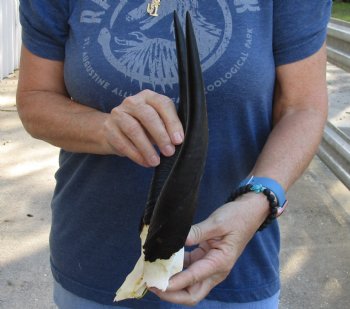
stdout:
[[(344, 78), (329, 66), (330, 118), (347, 131)], [(15, 76), (0, 82), (0, 308), (55, 308), (48, 233), (58, 149), (24, 131), (15, 88)], [(288, 198), (280, 219), (280, 308), (349, 308), (349, 190), (316, 157)]]

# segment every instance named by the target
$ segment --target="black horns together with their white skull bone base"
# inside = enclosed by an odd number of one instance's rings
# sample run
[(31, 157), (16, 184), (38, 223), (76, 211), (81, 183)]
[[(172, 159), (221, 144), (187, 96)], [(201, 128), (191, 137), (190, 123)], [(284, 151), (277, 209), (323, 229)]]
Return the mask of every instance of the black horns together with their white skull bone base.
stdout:
[(200, 60), (191, 17), (186, 39), (174, 13), (180, 103), (185, 138), (171, 157), (161, 155), (140, 224), (141, 256), (118, 289), (115, 301), (141, 298), (148, 288), (165, 290), (181, 271), (184, 245), (196, 211), (208, 148), (208, 121)]

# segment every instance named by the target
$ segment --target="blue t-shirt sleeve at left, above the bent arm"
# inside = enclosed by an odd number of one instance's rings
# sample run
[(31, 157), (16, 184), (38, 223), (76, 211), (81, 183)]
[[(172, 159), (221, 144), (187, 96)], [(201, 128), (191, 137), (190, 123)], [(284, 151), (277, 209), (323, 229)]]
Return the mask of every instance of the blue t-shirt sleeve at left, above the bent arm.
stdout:
[(64, 60), (68, 0), (20, 0), (19, 12), (25, 47), (39, 57)]

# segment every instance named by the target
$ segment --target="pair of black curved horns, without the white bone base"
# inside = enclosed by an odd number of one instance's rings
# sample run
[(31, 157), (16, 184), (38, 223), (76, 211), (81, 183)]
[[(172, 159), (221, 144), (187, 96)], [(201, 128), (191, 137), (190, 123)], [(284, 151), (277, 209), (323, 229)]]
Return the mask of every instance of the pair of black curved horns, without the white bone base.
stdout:
[(142, 219), (149, 225), (143, 246), (145, 260), (169, 259), (185, 244), (196, 210), (208, 148), (208, 121), (204, 83), (190, 14), (186, 39), (174, 12), (179, 75), (178, 115), (185, 138), (172, 157), (161, 156)]

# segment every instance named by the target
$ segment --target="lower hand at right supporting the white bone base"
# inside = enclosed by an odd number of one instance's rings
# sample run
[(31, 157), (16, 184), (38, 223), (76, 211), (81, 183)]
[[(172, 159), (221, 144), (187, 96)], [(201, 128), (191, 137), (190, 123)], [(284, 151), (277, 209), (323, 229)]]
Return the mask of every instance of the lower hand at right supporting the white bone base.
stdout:
[(208, 219), (192, 226), (186, 245), (199, 246), (186, 253), (186, 269), (170, 279), (165, 292), (150, 290), (165, 301), (198, 304), (228, 276), (268, 212), (266, 198), (255, 193), (218, 208)]

